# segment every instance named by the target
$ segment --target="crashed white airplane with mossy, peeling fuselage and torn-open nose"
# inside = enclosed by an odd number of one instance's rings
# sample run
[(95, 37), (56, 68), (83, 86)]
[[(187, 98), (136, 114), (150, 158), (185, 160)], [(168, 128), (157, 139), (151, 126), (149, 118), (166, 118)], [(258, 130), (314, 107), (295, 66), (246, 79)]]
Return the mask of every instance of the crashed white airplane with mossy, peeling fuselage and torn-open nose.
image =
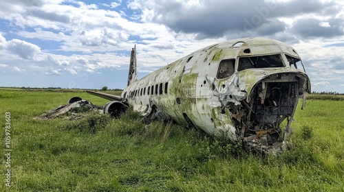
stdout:
[(114, 116), (132, 106), (147, 119), (173, 119), (279, 154), (288, 144), (299, 98), (304, 107), (310, 91), (301, 58), (290, 45), (240, 38), (195, 51), (140, 80), (134, 47), (121, 96), (87, 92), (111, 100), (103, 111)]

